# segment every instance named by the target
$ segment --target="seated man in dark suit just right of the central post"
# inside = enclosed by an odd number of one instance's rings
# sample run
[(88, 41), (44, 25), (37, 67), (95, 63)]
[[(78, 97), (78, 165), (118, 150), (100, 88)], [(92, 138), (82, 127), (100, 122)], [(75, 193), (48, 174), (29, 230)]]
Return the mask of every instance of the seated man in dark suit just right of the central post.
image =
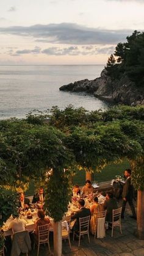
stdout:
[(79, 218), (90, 216), (90, 209), (85, 208), (85, 201), (84, 199), (78, 200), (79, 203), (79, 210), (76, 213), (71, 213), (71, 220), (76, 219), (76, 222), (74, 224), (74, 230), (76, 232), (79, 232)]

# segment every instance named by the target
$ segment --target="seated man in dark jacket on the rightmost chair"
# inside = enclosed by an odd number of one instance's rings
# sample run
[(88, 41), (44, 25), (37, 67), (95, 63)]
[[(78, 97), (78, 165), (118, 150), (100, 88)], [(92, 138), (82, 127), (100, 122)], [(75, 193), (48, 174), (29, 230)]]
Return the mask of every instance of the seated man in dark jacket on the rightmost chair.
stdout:
[(117, 200), (113, 199), (113, 194), (107, 192), (106, 200), (104, 201), (104, 210), (107, 210), (106, 221), (112, 222), (112, 210), (118, 208)]

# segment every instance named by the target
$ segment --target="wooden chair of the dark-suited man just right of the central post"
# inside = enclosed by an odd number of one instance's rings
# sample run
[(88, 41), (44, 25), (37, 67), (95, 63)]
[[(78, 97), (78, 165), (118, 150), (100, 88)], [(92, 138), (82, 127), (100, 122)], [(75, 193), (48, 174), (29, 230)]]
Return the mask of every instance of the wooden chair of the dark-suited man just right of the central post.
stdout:
[[(84, 235), (88, 235), (88, 241), (90, 243), (89, 225), (90, 225), (90, 216), (79, 218), (79, 235), (78, 235), (79, 246), (80, 246), (81, 236), (84, 236)], [(73, 241), (74, 241), (74, 235), (75, 235), (75, 232), (73, 231)]]

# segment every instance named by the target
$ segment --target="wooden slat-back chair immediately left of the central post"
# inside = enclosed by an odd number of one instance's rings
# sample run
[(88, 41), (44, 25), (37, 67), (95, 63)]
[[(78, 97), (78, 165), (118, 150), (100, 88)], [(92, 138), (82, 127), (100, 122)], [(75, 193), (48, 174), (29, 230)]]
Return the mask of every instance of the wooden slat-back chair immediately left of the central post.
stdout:
[(50, 246), (49, 246), (49, 224), (38, 226), (38, 237), (34, 237), (34, 249), (35, 244), (37, 244), (37, 256), (40, 250), (40, 244), (48, 244), (49, 252), (51, 253)]

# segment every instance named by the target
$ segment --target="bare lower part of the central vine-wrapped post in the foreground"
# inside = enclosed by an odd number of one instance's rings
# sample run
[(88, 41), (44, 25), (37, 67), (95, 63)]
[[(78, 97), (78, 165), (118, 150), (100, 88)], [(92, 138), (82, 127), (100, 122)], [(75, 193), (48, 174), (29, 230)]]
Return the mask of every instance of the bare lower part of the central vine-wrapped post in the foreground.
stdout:
[(54, 222), (54, 256), (62, 256), (62, 221)]

